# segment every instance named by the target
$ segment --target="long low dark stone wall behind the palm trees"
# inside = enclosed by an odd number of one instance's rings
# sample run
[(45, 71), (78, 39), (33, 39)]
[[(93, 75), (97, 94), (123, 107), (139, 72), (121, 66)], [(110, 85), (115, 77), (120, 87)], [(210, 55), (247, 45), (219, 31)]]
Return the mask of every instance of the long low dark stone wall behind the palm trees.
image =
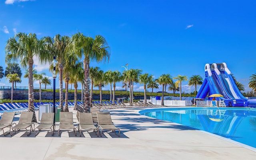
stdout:
[[(0, 90), (0, 99), (11, 99), (11, 92), (8, 90)], [(52, 100), (53, 92), (41, 92), (42, 100)], [(115, 95), (115, 98), (126, 98), (128, 99), (129, 95)], [(63, 98), (65, 99), (65, 92), (63, 92)], [(13, 100), (27, 100), (28, 91), (13, 91)], [(39, 100), (39, 92), (34, 92), (34, 99)], [(56, 92), (56, 100), (60, 99), (60, 93)], [(81, 94), (77, 94), (77, 99), (81, 100)], [(93, 100), (100, 100), (100, 94), (93, 94)], [(134, 96), (134, 100), (144, 99), (144, 96)], [(150, 99), (147, 96), (147, 99)], [(68, 100), (74, 100), (74, 93), (68, 93)], [(102, 100), (110, 100), (110, 94), (102, 94)]]

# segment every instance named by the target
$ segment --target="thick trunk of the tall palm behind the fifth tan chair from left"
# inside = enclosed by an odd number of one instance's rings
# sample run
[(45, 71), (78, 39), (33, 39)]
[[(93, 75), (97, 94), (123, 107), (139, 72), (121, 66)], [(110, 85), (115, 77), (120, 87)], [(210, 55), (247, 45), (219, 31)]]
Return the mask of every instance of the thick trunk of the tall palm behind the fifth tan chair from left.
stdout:
[(89, 60), (84, 59), (84, 111), (90, 113)]

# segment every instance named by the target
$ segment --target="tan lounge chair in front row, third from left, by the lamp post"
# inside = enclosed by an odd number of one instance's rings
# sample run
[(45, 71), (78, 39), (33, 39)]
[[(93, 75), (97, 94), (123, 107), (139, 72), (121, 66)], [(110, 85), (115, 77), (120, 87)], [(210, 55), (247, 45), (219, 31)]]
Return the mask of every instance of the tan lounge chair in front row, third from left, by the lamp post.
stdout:
[[(38, 129), (38, 132), (36, 133), (36, 129)], [(38, 135), (41, 129), (51, 129), (52, 136), (54, 135), (54, 113), (42, 113), (40, 125), (36, 127), (35, 135)]]

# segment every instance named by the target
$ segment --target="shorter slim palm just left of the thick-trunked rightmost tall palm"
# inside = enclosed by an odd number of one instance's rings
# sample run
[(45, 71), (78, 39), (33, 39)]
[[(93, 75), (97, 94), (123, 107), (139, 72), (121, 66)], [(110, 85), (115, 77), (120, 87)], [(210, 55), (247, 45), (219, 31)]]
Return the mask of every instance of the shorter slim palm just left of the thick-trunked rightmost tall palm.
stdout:
[(84, 68), (82, 68), (82, 62), (79, 62), (76, 64), (70, 73), (70, 83), (74, 84), (74, 110), (76, 110), (77, 107), (77, 88), (78, 88), (78, 82), (82, 82), (84, 79)]

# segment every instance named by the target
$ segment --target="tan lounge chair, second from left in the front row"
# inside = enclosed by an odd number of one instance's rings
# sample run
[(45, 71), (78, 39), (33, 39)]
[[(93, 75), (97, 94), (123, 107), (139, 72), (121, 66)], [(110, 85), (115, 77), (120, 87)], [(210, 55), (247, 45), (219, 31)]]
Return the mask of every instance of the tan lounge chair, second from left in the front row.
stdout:
[[(35, 128), (35, 124), (32, 123), (33, 113), (34, 112), (22, 112), (20, 115), (20, 120), (18, 125), (10, 128), (10, 135), (13, 136), (16, 133), (16, 130), (20, 131), (20, 129), (26, 129), (27, 136), (29, 136), (31, 134), (31, 131), (34, 131), (32, 125), (34, 125), (34, 128)], [(30, 127), (29, 134), (27, 130), (28, 127)], [(11, 129), (12, 131), (15, 130), (15, 133), (13, 135), (11, 134)]]

